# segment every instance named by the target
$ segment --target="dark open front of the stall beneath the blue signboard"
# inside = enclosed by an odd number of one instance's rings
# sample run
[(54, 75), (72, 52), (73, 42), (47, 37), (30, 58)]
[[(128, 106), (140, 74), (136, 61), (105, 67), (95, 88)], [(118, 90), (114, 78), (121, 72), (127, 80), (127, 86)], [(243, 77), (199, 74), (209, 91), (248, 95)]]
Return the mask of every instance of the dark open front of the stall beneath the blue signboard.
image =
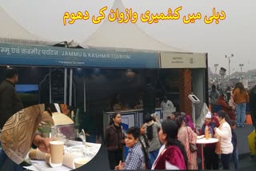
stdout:
[[(138, 108), (145, 78), (150, 77), (156, 107), (167, 95), (179, 107), (178, 69), (103, 69), (18, 66), (16, 89), (25, 107), (40, 103), (64, 103), (75, 107), (76, 122), (91, 134), (103, 134), (102, 113), (113, 111), (111, 103), (120, 94), (122, 110)], [(4, 79), (6, 66), (0, 68)]]

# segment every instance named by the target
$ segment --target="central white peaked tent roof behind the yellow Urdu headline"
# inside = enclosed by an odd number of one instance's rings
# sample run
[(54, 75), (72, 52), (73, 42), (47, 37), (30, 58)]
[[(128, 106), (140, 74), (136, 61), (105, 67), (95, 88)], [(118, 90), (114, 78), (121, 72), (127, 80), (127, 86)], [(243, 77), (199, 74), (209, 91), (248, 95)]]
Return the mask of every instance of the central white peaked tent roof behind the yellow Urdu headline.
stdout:
[[(113, 10), (125, 11), (122, 0), (114, 1)], [(106, 15), (108, 16), (108, 15)], [(126, 24), (117, 21), (110, 22), (107, 19), (102, 26), (91, 34), (86, 41), (80, 44), (82, 47), (100, 48), (107, 50), (128, 50), (128, 51), (168, 51), (168, 52), (187, 52), (159, 42), (143, 32), (136, 23)]]

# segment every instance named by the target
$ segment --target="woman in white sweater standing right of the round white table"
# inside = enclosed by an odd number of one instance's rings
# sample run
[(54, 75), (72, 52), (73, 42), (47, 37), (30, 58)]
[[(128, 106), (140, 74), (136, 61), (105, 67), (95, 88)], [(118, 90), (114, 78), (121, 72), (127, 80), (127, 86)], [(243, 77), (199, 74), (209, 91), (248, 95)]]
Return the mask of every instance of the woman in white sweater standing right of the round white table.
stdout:
[(226, 113), (223, 110), (217, 113), (219, 126), (214, 128), (218, 143), (216, 145), (215, 152), (221, 154), (223, 169), (230, 169), (230, 158), (233, 153), (233, 145), (231, 142), (232, 133), (230, 124), (226, 121)]

